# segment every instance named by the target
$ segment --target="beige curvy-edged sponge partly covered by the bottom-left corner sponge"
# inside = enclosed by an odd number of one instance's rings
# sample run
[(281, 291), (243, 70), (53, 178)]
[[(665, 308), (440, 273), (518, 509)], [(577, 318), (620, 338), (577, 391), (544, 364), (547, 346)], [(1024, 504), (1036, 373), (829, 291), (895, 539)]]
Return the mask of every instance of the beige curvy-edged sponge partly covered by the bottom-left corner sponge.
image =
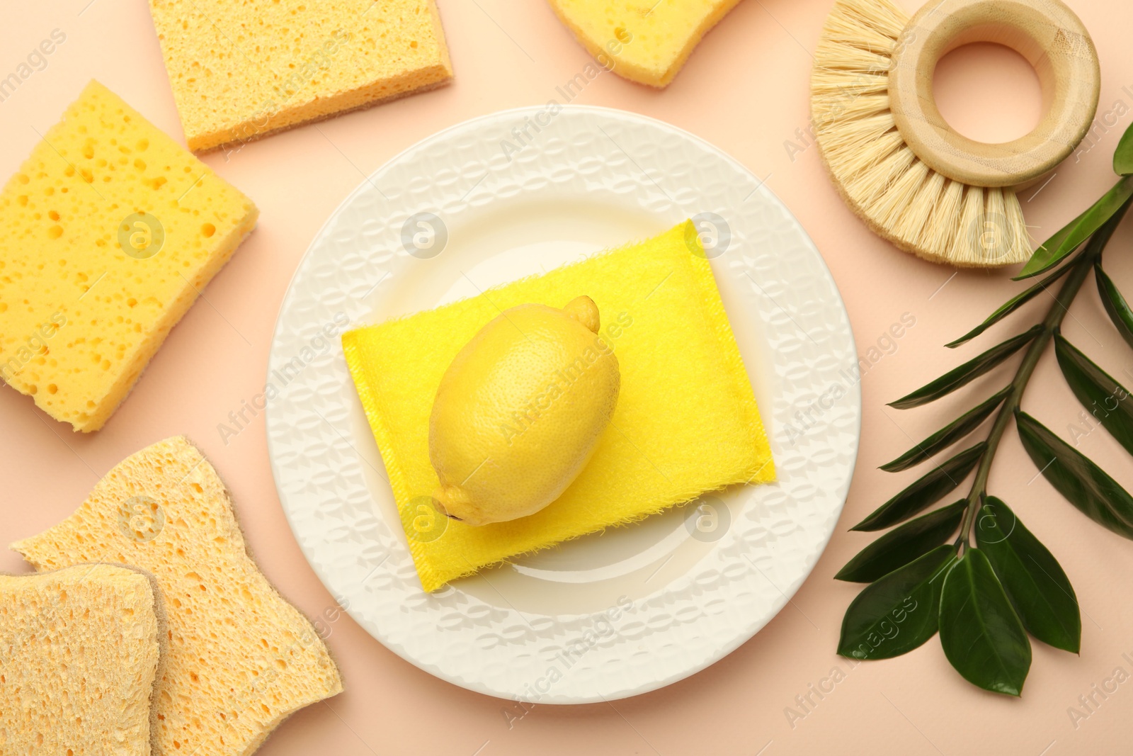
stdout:
[(11, 546), (36, 569), (117, 561), (153, 572), (169, 617), (159, 754), (250, 754), (342, 690), (310, 622), (248, 555), (224, 484), (184, 438), (128, 457), (59, 525)]

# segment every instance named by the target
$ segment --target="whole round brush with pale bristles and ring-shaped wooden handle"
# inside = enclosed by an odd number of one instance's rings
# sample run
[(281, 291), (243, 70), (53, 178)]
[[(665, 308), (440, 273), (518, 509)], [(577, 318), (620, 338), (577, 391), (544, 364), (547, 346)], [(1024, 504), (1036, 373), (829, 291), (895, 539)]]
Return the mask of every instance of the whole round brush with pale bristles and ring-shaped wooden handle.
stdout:
[[(1046, 112), (1026, 136), (983, 144), (940, 116), (936, 63), (972, 42), (1012, 48), (1038, 73)], [(1015, 190), (1073, 152), (1099, 88), (1093, 42), (1059, 0), (932, 0), (912, 18), (891, 0), (837, 0), (811, 118), (835, 186), (875, 233), (932, 262), (999, 267), (1031, 254)]]

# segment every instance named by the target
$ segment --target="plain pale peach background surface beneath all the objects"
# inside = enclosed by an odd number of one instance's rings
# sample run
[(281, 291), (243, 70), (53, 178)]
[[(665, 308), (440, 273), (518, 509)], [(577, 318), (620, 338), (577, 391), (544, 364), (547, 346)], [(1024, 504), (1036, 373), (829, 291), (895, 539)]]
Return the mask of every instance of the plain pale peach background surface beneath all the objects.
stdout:
[[(662, 0), (675, 1), (675, 0)], [(88, 5), (90, 3), (90, 5)], [(263, 418), (225, 447), (216, 431), (228, 411), (263, 385), (279, 303), (315, 231), (339, 202), (389, 158), (452, 124), (495, 110), (539, 104), (588, 58), (542, 0), (440, 0), (455, 67), (450, 87), (299, 128), (246, 146), (225, 162), (205, 160), (262, 209), (258, 230), (206, 289), (206, 300), (172, 332), (110, 424), (74, 435), (31, 400), (0, 390), (0, 542), (27, 536), (68, 515), (90, 487), (128, 453), (184, 433), (205, 451), (232, 489), (250, 546), (271, 580), (307, 614), (333, 605), (310, 571), (280, 509), (267, 462)], [(1133, 681), (1121, 685), (1075, 728), (1067, 708), (1122, 666), (1133, 673), (1133, 543), (1109, 534), (1056, 494), (1023, 455), (1014, 434), (991, 486), (1051, 549), (1082, 605), (1080, 657), (1034, 643), (1023, 698), (985, 694), (947, 664), (939, 642), (904, 657), (857, 668), (834, 654), (843, 611), (857, 586), (832, 580), (870, 536), (845, 528), (909, 482), (877, 465), (951, 419), (961, 402), (898, 413), (884, 406), (964, 355), (942, 343), (1019, 289), (1005, 275), (930, 265), (870, 236), (842, 205), (813, 147), (789, 155), (785, 141), (807, 125), (807, 83), (830, 0), (748, 0), (713, 31), (664, 92), (603, 75), (579, 97), (671, 121), (713, 142), (761, 177), (799, 216), (823, 252), (845, 298), (859, 354), (897, 322), (917, 318), (862, 379), (862, 447), (838, 532), (793, 602), (753, 639), (708, 670), (663, 690), (613, 705), (537, 706), (509, 728), (506, 702), (468, 693), (421, 672), (373, 640), (348, 617), (329, 643), (347, 691), (288, 721), (265, 756), (333, 753), (480, 754), (1116, 754), (1127, 753)], [(1041, 190), (1023, 196), (1037, 237), (1046, 237), (1113, 184), (1109, 160), (1133, 107), (1133, 6), (1073, 0), (1101, 57), (1099, 116), (1117, 125), (1072, 156)], [(909, 10), (914, 6), (910, 5)], [(223, 23), (223, 19), (218, 19)], [(6, 7), (0, 76), (59, 28), (67, 41), (48, 67), (0, 102), (0, 173), (10, 175), (83, 84), (97, 77), (157, 126), (181, 129), (144, 0), (66, 0)], [(1038, 119), (1037, 83), (1020, 59), (995, 50), (959, 53), (939, 73), (943, 109), (970, 136), (1006, 138)], [(966, 73), (966, 75), (965, 75)], [(1123, 87), (1128, 87), (1123, 91)], [(1121, 113), (1121, 114), (1117, 114)], [(1110, 122), (1113, 122), (1113, 119)], [(793, 159), (792, 159), (793, 158)], [(1133, 295), (1126, 223), (1107, 257)], [(1045, 305), (1038, 305), (1042, 307)], [(1013, 325), (998, 329), (1005, 333)], [(1065, 331), (1124, 380), (1133, 354), (1098, 304), (1092, 283)], [(1068, 438), (1079, 406), (1053, 358), (1045, 359), (1024, 406)], [(1128, 457), (1105, 432), (1082, 450), (1127, 486)], [(0, 552), (0, 571), (25, 571)], [(789, 722), (786, 707), (810, 686), (833, 691)], [(841, 677), (841, 676), (840, 676)], [(1110, 686), (1111, 687), (1111, 686)], [(1080, 710), (1081, 711), (1081, 710)], [(1083, 712), (1084, 713), (1084, 712)]]

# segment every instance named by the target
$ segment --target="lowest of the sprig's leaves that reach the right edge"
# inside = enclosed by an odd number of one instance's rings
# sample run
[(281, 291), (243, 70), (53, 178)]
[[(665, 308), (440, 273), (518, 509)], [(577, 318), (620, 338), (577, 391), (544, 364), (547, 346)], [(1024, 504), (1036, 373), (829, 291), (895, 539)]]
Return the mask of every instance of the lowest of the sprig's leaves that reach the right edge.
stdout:
[(1094, 523), (1133, 538), (1133, 496), (1125, 489), (1026, 413), (1015, 413), (1015, 425), (1031, 461), (1066, 501)]

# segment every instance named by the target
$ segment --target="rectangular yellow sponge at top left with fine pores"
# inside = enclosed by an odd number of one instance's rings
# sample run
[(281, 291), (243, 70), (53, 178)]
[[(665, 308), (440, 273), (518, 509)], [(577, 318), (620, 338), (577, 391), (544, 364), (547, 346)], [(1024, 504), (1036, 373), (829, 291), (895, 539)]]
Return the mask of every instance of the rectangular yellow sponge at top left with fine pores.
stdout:
[(452, 78), (433, 0), (150, 0), (194, 151)]

